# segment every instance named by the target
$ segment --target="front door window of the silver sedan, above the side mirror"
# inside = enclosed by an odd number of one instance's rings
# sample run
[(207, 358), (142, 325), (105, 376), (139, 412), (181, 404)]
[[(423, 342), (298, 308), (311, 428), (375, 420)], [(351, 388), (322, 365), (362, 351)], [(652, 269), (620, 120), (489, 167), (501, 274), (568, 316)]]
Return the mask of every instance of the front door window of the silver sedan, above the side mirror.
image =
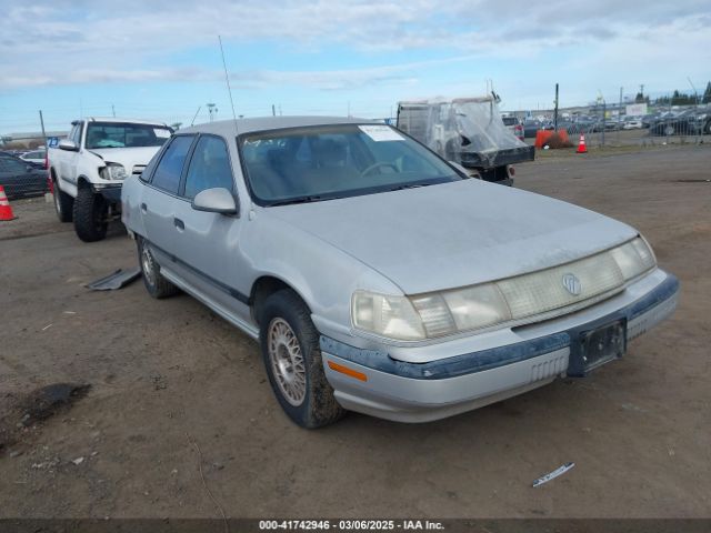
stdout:
[(183, 195), (193, 199), (200, 191), (217, 187), (232, 191), (232, 183), (227, 143), (219, 137), (202, 135), (192, 152)]

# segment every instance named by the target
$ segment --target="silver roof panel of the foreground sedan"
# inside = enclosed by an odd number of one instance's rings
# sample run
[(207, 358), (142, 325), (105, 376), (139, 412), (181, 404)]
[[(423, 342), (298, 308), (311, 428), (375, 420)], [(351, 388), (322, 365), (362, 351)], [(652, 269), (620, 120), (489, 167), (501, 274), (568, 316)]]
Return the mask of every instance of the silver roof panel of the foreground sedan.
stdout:
[(373, 123), (382, 124), (382, 122), (353, 117), (258, 117), (253, 119), (217, 120), (214, 122), (180, 129), (178, 133), (214, 133), (221, 137), (231, 137), (253, 131), (279, 130), (282, 128)]

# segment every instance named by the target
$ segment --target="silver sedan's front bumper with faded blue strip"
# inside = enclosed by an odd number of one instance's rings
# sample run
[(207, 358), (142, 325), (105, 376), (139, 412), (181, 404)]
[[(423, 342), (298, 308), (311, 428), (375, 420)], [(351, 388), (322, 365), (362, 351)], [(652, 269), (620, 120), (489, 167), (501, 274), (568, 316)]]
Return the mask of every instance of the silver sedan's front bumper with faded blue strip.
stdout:
[[(336, 399), (346, 409), (400, 422), (427, 422), (470, 411), (550, 383), (559, 375), (584, 375), (571, 356), (583, 332), (623, 321), (627, 340), (670, 316), (679, 280), (663, 281), (638, 300), (594, 320), (562, 321), (565, 328), (514, 344), (458, 354), (425, 363), (392, 359), (384, 351), (362, 350), (321, 336), (323, 369)], [(365, 376), (354, 379), (329, 362)], [(338, 366), (336, 366), (338, 368)]]

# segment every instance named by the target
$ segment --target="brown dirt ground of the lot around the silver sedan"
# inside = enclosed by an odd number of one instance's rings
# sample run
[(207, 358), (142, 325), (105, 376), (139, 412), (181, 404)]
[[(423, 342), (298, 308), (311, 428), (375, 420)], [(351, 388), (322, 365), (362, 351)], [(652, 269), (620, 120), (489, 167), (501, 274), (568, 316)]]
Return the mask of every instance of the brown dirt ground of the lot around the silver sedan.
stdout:
[[(13, 202), (19, 219), (0, 222), (0, 515), (219, 517), (209, 489), (232, 517), (711, 516), (708, 180), (709, 145), (519, 167), (518, 187), (640, 229), (681, 279), (673, 319), (584, 380), (435, 423), (351, 413), (319, 431), (287, 420), (257, 344), (193, 299), (83, 286), (136, 265), (121, 228), (84, 244), (44, 199)], [(91, 389), (43, 421), (9, 408), (53, 383)]]

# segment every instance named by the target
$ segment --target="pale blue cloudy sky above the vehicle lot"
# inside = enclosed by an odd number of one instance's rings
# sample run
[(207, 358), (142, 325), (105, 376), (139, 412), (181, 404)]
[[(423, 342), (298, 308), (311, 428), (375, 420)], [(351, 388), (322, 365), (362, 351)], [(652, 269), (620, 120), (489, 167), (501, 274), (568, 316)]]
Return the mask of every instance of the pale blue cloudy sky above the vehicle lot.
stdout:
[[(709, 0), (0, 0), (0, 132), (80, 115), (381, 118), (399, 100), (584, 104), (711, 79)], [(691, 83), (690, 83), (691, 81)]]

